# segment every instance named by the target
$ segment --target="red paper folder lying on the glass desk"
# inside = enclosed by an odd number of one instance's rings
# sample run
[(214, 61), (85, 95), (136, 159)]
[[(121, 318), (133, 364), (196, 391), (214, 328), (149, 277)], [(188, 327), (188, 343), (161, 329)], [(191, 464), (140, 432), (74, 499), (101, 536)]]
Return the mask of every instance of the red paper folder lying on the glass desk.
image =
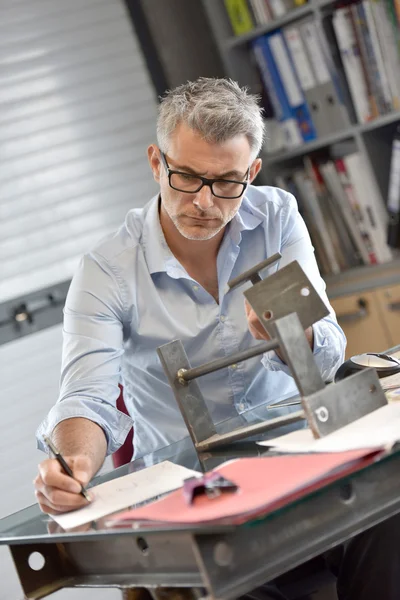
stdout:
[(185, 501), (182, 489), (146, 506), (110, 517), (115, 521), (148, 521), (165, 524), (243, 523), (265, 515), (324, 485), (358, 471), (382, 455), (364, 449), (327, 454), (241, 458), (216, 471), (238, 486), (215, 498)]

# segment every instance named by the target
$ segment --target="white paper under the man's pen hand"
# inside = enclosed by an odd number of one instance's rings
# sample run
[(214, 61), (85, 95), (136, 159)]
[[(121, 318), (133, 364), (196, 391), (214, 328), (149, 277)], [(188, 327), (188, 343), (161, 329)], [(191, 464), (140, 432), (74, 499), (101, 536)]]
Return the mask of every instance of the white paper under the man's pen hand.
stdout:
[(185, 479), (200, 475), (198, 471), (164, 461), (90, 488), (89, 493), (94, 497), (90, 504), (62, 515), (52, 515), (52, 518), (63, 529), (73, 529), (172, 492), (180, 488)]

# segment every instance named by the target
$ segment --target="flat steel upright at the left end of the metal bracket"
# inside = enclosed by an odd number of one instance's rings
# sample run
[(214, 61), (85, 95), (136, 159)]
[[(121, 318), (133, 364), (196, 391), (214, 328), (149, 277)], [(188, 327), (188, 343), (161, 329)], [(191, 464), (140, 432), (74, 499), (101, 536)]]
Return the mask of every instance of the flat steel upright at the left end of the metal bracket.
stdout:
[(157, 348), (157, 353), (194, 444), (215, 435), (217, 432), (199, 384), (193, 379), (182, 385), (177, 379), (180, 369), (191, 368), (182, 342), (174, 340), (164, 344)]

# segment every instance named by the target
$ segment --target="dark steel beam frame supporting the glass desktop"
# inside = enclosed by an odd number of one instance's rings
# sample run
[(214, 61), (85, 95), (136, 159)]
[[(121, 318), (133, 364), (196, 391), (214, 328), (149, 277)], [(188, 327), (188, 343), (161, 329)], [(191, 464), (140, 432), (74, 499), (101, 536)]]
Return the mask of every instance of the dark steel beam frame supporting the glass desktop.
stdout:
[[(64, 587), (160, 588), (231, 599), (400, 511), (400, 451), (252, 526), (124, 529), (7, 538), (27, 598)], [(33, 552), (45, 558), (34, 571)], [(168, 595), (164, 590), (164, 597)], [(172, 596), (171, 596), (172, 597)]]

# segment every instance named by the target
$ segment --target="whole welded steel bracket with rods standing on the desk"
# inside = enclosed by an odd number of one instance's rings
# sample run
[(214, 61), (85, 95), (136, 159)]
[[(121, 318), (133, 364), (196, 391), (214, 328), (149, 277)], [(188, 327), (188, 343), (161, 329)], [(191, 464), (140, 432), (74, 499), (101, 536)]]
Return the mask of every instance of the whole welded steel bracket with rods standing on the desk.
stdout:
[[(247, 281), (253, 283), (244, 296), (271, 337), (269, 341), (194, 368), (180, 340), (157, 349), (198, 452), (304, 419), (307, 419), (314, 436), (322, 437), (387, 404), (373, 369), (360, 371), (339, 383), (325, 385), (305, 329), (327, 316), (329, 311), (297, 261), (265, 279), (261, 278), (260, 271), (280, 258), (280, 254), (275, 254), (228, 284), (233, 289)], [(218, 434), (196, 379), (277, 348), (280, 348), (296, 382), (302, 410)]]

